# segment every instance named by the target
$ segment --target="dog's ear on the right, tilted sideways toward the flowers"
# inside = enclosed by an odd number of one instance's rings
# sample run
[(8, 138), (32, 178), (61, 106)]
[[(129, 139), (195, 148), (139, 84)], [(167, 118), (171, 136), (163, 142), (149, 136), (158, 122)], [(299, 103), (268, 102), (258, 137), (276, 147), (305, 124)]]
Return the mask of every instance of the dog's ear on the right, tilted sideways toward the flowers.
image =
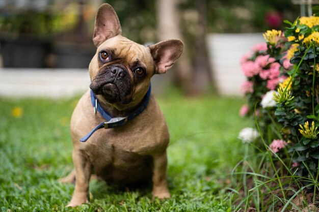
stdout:
[(183, 52), (184, 44), (180, 40), (167, 40), (148, 47), (155, 62), (155, 74), (164, 74), (177, 61)]

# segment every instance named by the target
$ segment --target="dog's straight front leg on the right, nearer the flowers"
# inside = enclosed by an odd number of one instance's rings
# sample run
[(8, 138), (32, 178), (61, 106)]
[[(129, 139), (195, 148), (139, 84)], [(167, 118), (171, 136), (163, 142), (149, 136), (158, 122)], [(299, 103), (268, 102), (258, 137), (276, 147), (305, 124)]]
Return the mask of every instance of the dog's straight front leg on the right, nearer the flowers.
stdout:
[(166, 151), (162, 155), (153, 156), (153, 197), (159, 199), (170, 198), (167, 187), (167, 155)]

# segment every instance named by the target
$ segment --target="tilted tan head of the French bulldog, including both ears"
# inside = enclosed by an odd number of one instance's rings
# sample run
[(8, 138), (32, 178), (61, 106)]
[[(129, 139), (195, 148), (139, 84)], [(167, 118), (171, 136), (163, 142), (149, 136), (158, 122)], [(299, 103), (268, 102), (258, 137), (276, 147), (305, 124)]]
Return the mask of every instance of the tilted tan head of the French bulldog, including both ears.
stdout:
[(123, 37), (119, 19), (109, 4), (98, 9), (93, 42), (97, 51), (89, 66), (90, 88), (119, 110), (139, 104), (150, 78), (166, 73), (183, 50), (180, 40), (144, 47)]

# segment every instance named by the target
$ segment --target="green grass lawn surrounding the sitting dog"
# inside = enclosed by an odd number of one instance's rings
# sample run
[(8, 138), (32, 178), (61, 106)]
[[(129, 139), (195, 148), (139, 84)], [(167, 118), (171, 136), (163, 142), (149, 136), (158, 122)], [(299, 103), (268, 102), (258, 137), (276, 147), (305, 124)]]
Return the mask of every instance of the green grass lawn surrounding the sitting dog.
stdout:
[[(224, 179), (241, 160), (238, 132), (252, 126), (238, 117), (241, 98), (158, 98), (170, 129), (168, 181), (172, 198), (152, 200), (151, 187), (121, 191), (90, 183), (90, 203), (67, 208), (74, 185), (58, 179), (71, 171), (69, 119), (78, 98), (0, 98), (1, 211), (231, 211)], [(20, 107), (21, 117), (12, 110)]]

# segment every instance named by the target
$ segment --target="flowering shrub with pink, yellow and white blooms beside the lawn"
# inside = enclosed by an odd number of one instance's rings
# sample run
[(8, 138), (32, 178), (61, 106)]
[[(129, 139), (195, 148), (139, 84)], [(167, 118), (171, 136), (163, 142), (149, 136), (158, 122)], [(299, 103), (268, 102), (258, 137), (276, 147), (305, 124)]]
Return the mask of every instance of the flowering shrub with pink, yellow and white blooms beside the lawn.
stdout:
[(284, 34), (267, 31), (266, 43), (241, 59), (247, 77), (241, 90), (248, 99), (241, 115), (256, 115), (269, 150), (296, 174), (314, 179), (319, 159), (319, 17), (286, 23)]

